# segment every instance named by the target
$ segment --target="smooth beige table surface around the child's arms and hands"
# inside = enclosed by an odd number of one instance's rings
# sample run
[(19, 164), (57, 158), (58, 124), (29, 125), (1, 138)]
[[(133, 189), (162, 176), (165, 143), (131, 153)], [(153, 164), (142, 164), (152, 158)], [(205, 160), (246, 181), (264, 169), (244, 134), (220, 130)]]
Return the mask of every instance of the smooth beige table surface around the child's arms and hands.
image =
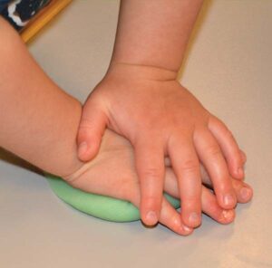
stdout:
[[(76, 0), (29, 45), (81, 101), (106, 71), (118, 1)], [(0, 153), (0, 267), (272, 267), (272, 1), (208, 1), (180, 81), (248, 154), (254, 200), (234, 224), (204, 216), (194, 235), (115, 224), (63, 204), (44, 177)]]

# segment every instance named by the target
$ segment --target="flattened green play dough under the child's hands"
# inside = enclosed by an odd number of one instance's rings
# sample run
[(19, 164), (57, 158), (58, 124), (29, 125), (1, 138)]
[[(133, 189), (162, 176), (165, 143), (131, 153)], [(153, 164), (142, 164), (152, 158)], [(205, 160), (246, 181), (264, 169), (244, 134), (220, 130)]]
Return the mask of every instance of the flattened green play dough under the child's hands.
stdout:
[[(128, 201), (83, 192), (71, 187), (62, 178), (45, 174), (56, 196), (83, 213), (112, 222), (132, 222), (140, 219), (139, 209)], [(172, 206), (180, 207), (180, 200), (164, 195)]]

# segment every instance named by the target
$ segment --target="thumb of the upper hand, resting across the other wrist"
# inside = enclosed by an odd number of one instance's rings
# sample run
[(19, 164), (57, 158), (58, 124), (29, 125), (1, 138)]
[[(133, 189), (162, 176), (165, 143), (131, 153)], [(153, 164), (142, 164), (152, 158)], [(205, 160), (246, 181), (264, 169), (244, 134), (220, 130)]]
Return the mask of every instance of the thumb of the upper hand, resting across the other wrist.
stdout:
[[(91, 103), (90, 103), (91, 104)], [(107, 116), (102, 109), (84, 106), (77, 133), (77, 155), (82, 161), (89, 161), (99, 151)]]

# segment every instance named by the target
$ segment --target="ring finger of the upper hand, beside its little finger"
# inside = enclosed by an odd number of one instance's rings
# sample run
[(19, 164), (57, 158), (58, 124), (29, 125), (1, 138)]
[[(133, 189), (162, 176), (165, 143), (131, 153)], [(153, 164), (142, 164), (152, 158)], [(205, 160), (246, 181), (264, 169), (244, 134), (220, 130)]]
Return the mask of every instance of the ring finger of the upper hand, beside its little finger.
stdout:
[(237, 197), (231, 185), (228, 167), (219, 144), (208, 129), (195, 131), (194, 139), (199, 158), (209, 173), (219, 206), (231, 209), (237, 204)]

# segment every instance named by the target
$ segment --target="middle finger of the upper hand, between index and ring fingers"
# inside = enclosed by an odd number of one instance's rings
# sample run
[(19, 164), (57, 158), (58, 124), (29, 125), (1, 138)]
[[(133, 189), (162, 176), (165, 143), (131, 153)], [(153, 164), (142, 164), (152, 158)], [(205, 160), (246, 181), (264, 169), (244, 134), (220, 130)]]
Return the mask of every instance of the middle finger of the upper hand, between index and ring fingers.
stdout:
[(189, 135), (171, 137), (168, 152), (178, 179), (182, 220), (189, 227), (197, 227), (201, 224), (201, 178), (199, 158)]

